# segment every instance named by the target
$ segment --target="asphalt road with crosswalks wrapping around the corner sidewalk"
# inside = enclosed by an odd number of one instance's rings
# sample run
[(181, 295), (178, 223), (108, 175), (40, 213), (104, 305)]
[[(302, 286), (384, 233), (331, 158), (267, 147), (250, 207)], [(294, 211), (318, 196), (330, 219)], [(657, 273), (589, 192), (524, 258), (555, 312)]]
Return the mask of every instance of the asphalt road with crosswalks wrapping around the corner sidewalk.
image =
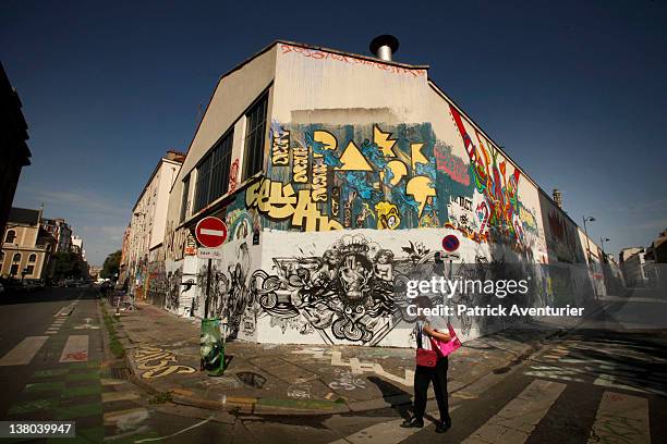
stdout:
[[(422, 430), (399, 428), (405, 406), (306, 418), (163, 403), (105, 361), (94, 289), (45, 289), (0, 306), (0, 416), (74, 419), (76, 442), (663, 443), (666, 303), (609, 298), (579, 329), (451, 396), (453, 427), (436, 434), (429, 421)], [(73, 310), (57, 316), (63, 308)]]

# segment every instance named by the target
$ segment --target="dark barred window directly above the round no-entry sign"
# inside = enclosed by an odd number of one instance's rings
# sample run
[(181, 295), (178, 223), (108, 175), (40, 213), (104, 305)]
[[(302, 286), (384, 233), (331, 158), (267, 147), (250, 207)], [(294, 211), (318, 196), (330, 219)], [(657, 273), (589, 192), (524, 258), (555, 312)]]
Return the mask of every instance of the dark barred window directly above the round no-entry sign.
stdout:
[(233, 131), (227, 133), (206, 155), (197, 168), (195, 212), (218, 197), (223, 196), (229, 188), (229, 168), (233, 135)]

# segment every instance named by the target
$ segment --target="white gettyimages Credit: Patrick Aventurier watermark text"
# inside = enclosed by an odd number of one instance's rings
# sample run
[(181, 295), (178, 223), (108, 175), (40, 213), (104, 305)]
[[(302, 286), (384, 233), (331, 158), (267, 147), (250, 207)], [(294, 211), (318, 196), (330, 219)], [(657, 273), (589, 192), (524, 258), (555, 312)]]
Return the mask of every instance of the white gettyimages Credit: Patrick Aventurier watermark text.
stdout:
[[(530, 278), (523, 280), (476, 280), (476, 279), (446, 279), (444, 276), (433, 276), (430, 280), (412, 280), (405, 283), (405, 296), (411, 299), (417, 296), (440, 296), (442, 300), (451, 299), (454, 295), (495, 295), (499, 299), (507, 296), (521, 295), (525, 296), (529, 291)], [(470, 306), (468, 304), (457, 304), (450, 306), (447, 304), (438, 304), (435, 307), (424, 307), (421, 304), (410, 304), (408, 306), (408, 314), (410, 316), (461, 316), (471, 317), (508, 317), (508, 316), (535, 316), (535, 317), (580, 317), (583, 314), (583, 308), (571, 307), (569, 304), (565, 307), (522, 307), (520, 305), (504, 306), (498, 304), (492, 306)]]

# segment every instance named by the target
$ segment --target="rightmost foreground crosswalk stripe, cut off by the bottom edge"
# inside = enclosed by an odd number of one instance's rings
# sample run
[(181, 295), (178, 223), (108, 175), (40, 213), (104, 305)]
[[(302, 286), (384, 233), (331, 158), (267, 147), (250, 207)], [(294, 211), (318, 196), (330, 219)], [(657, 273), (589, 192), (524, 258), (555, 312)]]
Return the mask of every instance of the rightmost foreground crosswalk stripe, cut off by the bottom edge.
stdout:
[(605, 392), (597, 408), (589, 443), (651, 443), (648, 399)]

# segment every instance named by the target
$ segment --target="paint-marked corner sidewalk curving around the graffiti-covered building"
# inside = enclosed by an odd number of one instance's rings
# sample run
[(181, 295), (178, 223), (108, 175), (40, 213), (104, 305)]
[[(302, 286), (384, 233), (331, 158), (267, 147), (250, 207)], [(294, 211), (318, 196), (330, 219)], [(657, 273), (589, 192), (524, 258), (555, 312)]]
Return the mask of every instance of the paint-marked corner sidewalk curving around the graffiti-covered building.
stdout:
[[(390, 347), (227, 343), (222, 377), (199, 371), (199, 320), (151, 305), (116, 324), (134, 381), (177, 404), (258, 415), (331, 415), (409, 404), (414, 350)], [(450, 357), (449, 393), (504, 372), (558, 330), (504, 331)], [(433, 393), (429, 393), (433, 397)]]

